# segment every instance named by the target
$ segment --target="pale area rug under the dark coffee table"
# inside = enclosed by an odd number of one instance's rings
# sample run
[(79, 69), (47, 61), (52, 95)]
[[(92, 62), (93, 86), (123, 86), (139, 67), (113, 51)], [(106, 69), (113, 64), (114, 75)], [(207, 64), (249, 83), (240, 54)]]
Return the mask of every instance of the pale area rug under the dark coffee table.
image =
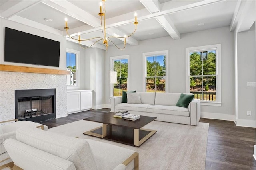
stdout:
[(139, 153), (140, 170), (204, 170), (209, 123), (197, 126), (152, 121), (145, 129), (157, 130), (140, 147), (133, 147), (84, 135), (102, 123), (76, 121), (50, 128), (49, 131), (80, 139), (92, 139), (118, 145)]

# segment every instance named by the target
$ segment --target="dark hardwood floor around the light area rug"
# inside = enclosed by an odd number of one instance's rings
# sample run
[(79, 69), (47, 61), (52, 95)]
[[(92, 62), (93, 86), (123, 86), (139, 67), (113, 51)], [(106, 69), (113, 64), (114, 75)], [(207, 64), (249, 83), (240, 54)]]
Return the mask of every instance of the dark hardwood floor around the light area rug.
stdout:
[[(51, 128), (109, 111), (89, 110), (40, 123)], [(201, 118), (200, 122), (209, 123), (206, 170), (256, 170), (256, 160), (252, 156), (255, 128), (238, 127), (233, 121)]]

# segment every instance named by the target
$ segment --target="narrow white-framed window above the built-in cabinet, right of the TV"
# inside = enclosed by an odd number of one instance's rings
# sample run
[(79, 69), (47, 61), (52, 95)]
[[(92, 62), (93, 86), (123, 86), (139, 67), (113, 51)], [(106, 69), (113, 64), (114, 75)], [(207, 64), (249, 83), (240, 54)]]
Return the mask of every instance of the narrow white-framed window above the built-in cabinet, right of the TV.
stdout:
[(67, 75), (67, 87), (79, 88), (79, 51), (67, 49), (66, 51), (66, 70), (70, 74)]

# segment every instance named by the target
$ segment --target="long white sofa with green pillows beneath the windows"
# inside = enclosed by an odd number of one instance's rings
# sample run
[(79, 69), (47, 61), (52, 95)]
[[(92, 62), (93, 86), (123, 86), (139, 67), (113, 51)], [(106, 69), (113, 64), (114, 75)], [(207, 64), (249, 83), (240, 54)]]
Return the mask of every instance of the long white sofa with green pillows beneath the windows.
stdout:
[(193, 99), (188, 108), (175, 106), (181, 93), (136, 92), (141, 104), (121, 103), (122, 97), (111, 99), (111, 111), (129, 111), (131, 114), (157, 117), (157, 121), (198, 125), (201, 116), (199, 99)]

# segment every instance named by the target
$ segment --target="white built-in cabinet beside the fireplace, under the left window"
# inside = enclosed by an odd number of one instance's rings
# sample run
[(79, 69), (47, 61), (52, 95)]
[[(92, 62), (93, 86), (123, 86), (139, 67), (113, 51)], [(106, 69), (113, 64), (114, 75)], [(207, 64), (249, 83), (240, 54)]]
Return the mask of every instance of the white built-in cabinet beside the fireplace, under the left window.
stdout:
[(92, 109), (92, 90), (67, 91), (67, 113)]

